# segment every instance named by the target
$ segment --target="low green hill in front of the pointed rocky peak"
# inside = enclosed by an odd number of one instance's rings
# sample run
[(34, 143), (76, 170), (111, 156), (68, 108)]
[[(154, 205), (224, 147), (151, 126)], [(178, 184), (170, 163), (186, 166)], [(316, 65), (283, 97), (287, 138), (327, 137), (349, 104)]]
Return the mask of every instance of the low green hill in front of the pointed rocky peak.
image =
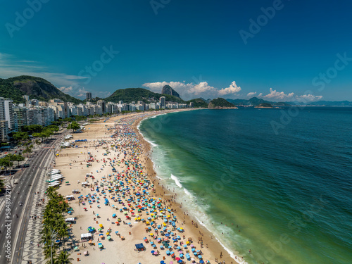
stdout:
[(118, 101), (123, 101), (124, 103), (130, 103), (132, 101), (144, 101), (144, 103), (151, 103), (159, 101), (161, 96), (165, 96), (165, 101), (172, 101), (177, 103), (186, 103), (177, 96), (172, 96), (169, 94), (158, 94), (151, 92), (144, 88), (126, 88), (118, 89), (111, 96), (108, 96), (105, 101), (118, 103)]

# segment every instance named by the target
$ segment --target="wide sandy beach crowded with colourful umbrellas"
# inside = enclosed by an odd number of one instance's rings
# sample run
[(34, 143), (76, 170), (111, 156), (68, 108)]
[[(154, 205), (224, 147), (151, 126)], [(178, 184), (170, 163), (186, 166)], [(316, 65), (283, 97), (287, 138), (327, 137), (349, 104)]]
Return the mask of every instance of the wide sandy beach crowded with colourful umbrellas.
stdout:
[[(184, 212), (177, 194), (156, 177), (150, 145), (137, 130), (141, 120), (156, 114), (161, 113), (87, 125), (70, 142), (87, 141), (57, 154), (56, 169), (65, 177), (58, 192), (74, 197), (65, 216), (76, 218), (69, 241), (77, 246), (70, 251), (73, 263), (244, 263)], [(91, 243), (81, 240), (88, 233)], [(144, 250), (137, 251), (136, 244)]]

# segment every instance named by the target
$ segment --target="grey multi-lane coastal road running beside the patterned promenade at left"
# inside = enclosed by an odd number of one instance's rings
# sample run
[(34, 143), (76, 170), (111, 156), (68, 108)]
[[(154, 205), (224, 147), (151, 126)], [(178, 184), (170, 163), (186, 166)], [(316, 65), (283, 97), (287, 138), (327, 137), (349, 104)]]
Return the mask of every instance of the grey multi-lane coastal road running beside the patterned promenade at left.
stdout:
[[(56, 135), (51, 142), (43, 144), (40, 149), (32, 154), (32, 158), (28, 162), (29, 168), (23, 169), (18, 178), (18, 184), (13, 184), (11, 181), (11, 220), (6, 219), (5, 197), (0, 200), (0, 264), (8, 263), (6, 256), (6, 246), (8, 241), (11, 244), (11, 263), (22, 263), (23, 249), (26, 240), (27, 226), (30, 220), (30, 212), (32, 204), (36, 203), (35, 192), (39, 177), (45, 177), (44, 167), (49, 167), (53, 162), (54, 150), (60, 144), (67, 132)], [(41, 191), (44, 191), (41, 190)], [(22, 201), (23, 205), (20, 206)], [(8, 220), (8, 222), (6, 222)], [(6, 225), (11, 225), (11, 239), (6, 239), (8, 229)]]

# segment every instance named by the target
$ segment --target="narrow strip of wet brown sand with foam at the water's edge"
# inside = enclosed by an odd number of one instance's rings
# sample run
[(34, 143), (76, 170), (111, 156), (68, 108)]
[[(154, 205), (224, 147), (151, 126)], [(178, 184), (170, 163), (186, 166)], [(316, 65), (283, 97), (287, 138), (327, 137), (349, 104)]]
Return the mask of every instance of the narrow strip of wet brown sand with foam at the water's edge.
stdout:
[[(207, 108), (204, 108), (207, 109)], [(194, 109), (196, 110), (196, 109)], [(212, 109), (210, 109), (212, 110)], [(176, 112), (180, 112), (180, 111), (176, 111)], [(170, 113), (175, 113), (175, 112), (170, 112)], [(168, 113), (162, 113), (160, 115), (167, 115)], [(158, 115), (153, 115), (153, 117), (156, 117)], [(157, 176), (156, 171), (154, 170), (154, 165), (156, 165), (155, 163), (153, 163), (153, 161), (151, 161), (151, 156), (150, 156), (150, 151), (153, 149), (153, 146), (151, 146), (151, 142), (147, 141), (147, 139), (145, 139), (143, 137), (142, 132), (140, 132), (139, 130), (139, 125), (141, 125), (141, 123), (144, 120), (150, 119), (152, 117), (146, 117), (146, 118), (139, 118), (139, 120), (134, 121), (134, 130), (139, 134), (139, 141), (143, 142), (142, 146), (144, 146), (144, 155), (146, 156), (146, 163), (145, 163), (145, 167), (146, 170), (148, 172), (148, 175), (154, 175), (154, 179), (156, 181), (163, 182), (163, 179), (161, 179), (160, 177)], [(168, 190), (168, 189), (161, 189), (160, 190), (160, 185), (156, 185), (156, 189), (159, 189), (159, 193), (164, 191), (164, 195), (175, 195), (176, 193), (172, 193), (172, 191)], [(227, 246), (225, 246), (224, 244), (222, 244), (222, 242), (220, 241), (220, 239), (218, 239), (218, 237), (215, 236), (215, 234), (213, 234), (213, 232), (211, 232), (208, 227), (206, 227), (205, 224), (203, 224), (203, 222), (201, 222), (199, 220), (199, 218), (196, 217), (196, 215), (189, 215), (189, 213), (187, 213), (187, 211), (185, 211), (182, 206), (180, 205), (180, 203), (178, 203), (177, 201), (173, 200), (172, 204), (174, 206), (177, 206), (177, 208), (180, 208), (180, 210), (182, 211), (182, 213), (184, 213), (184, 220), (185, 225), (187, 226), (187, 228), (190, 228), (194, 234), (197, 234), (197, 230), (199, 232), (201, 232), (201, 234), (203, 234), (203, 237), (206, 239), (205, 241), (208, 241), (208, 246), (210, 248), (210, 252), (212, 252), (213, 256), (218, 256), (218, 252), (222, 252), (222, 258), (218, 258), (218, 260), (225, 260), (226, 263), (238, 263), (238, 264), (247, 264), (246, 261), (244, 260), (244, 258), (238, 256), (236, 253), (233, 253), (230, 249), (227, 248)], [(181, 215), (182, 216), (182, 215)], [(198, 227), (194, 227), (194, 225), (190, 225), (189, 222), (197, 222)], [(201, 230), (201, 231), (200, 231)], [(198, 234), (199, 235), (199, 234)], [(215, 238), (215, 239), (214, 239)], [(225, 253), (224, 253), (225, 252)]]

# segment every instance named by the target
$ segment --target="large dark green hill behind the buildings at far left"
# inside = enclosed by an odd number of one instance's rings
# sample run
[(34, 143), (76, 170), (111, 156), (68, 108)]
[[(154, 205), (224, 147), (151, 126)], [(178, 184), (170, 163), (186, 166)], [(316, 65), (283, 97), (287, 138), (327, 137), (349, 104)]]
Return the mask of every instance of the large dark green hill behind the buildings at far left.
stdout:
[(30, 99), (49, 101), (50, 99), (61, 99), (73, 103), (82, 103), (80, 99), (64, 94), (53, 84), (40, 77), (17, 76), (8, 79), (0, 78), (0, 96), (12, 99), (15, 103), (25, 103), (23, 95), (29, 95)]

